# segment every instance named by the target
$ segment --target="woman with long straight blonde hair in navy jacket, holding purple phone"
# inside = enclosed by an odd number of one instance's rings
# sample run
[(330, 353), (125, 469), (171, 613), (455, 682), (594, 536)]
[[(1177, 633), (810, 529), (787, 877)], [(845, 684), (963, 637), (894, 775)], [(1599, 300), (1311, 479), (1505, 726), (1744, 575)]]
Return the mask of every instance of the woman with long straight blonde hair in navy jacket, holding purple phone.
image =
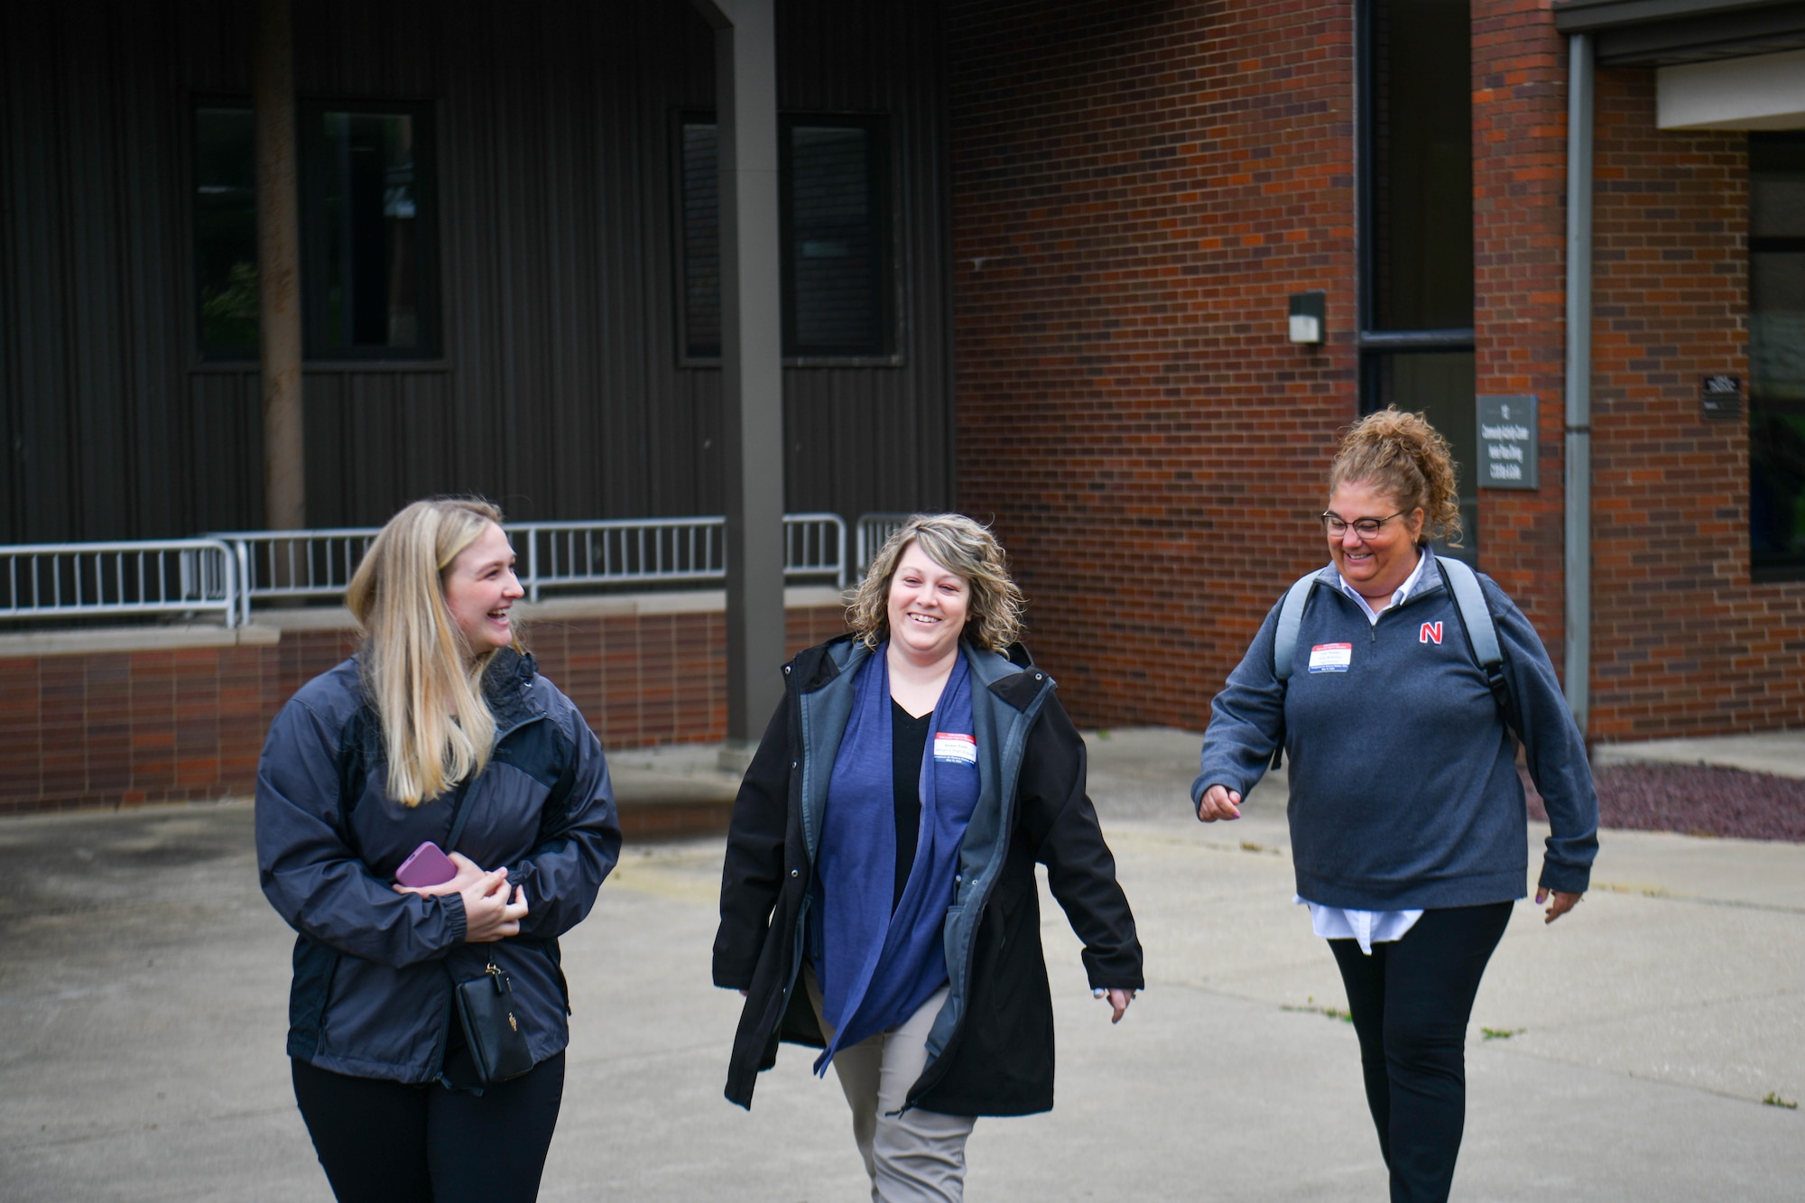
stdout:
[[(282, 708), (258, 766), (264, 894), (300, 932), (294, 1096), (341, 1201), (532, 1199), (558, 1122), (558, 936), (621, 829), (601, 744), (514, 638), (500, 522), (480, 500), (390, 518), (347, 594), (361, 650)], [(455, 876), (395, 883), (426, 842)], [(522, 1077), (473, 1057), (453, 988), (482, 979), (513, 992)]]

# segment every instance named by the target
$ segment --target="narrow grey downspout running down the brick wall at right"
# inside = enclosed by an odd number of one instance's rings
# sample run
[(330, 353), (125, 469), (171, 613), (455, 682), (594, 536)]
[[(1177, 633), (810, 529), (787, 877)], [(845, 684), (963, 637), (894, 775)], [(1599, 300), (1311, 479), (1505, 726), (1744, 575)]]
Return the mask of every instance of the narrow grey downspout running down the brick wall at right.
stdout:
[(1592, 706), (1592, 38), (1567, 40), (1567, 706)]

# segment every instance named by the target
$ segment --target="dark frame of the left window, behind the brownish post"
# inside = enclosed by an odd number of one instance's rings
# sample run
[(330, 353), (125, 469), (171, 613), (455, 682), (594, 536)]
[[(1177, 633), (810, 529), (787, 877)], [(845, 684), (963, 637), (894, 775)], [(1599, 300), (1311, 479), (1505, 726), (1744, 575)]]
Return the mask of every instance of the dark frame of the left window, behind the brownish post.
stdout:
[[(251, 99), (231, 94), (191, 94), (188, 103), (190, 139), (195, 137), (197, 114), (202, 108), (238, 108), (251, 112)], [(325, 343), (325, 307), (327, 307), (327, 264), (323, 237), (323, 204), (318, 148), (325, 141), (323, 132), (314, 128), (329, 112), (365, 112), (365, 114), (404, 114), (413, 117), (413, 182), (419, 206), (415, 226), (415, 255), (419, 262), (417, 314), (421, 329), (419, 347), (356, 347)], [(431, 99), (343, 99), (343, 98), (296, 98), (296, 219), (300, 224), (300, 275), (301, 275), (301, 363), (307, 368), (359, 367), (359, 368), (439, 368), (446, 359), (444, 331), (444, 287), (442, 287), (442, 247), (440, 247), (440, 179), (439, 179), (439, 105)], [(186, 220), (190, 228), (190, 312), (195, 322), (190, 347), (195, 349), (199, 368), (244, 368), (258, 361), (256, 345), (208, 345), (200, 314), (200, 247), (195, 231), (195, 181), (199, 161), (191, 155), (186, 181)], [(255, 172), (255, 164), (253, 164)], [(255, 204), (255, 197), (253, 197)], [(310, 233), (312, 231), (312, 233)]]

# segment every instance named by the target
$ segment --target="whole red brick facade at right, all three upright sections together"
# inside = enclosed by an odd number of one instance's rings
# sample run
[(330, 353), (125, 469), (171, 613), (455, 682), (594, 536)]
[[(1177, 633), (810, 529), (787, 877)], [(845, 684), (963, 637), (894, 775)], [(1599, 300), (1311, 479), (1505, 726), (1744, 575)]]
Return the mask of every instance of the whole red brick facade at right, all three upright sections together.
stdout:
[[(1083, 723), (1202, 726), (1357, 408), (1348, 5), (955, 2), (960, 508), (995, 517)], [(1482, 567), (1563, 641), (1567, 56), (1545, 0), (1473, 4), (1476, 387), (1541, 399), (1538, 491), (1480, 493)], [(1805, 585), (1747, 564), (1740, 134), (1597, 85), (1594, 739), (1805, 723)], [(1328, 343), (1285, 294), (1328, 289)]]

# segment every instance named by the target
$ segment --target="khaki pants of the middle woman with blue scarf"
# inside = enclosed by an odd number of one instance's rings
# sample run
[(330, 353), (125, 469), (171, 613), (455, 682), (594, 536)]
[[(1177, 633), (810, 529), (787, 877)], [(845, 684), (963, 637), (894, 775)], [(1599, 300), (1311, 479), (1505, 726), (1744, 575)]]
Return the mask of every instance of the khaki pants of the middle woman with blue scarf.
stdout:
[[(821, 983), (814, 966), (803, 966), (803, 986), (823, 1035), (832, 1040), (834, 1030), (821, 1019)], [(942, 1002), (946, 986), (895, 1028), (834, 1053), (874, 1203), (958, 1203), (966, 1198), (966, 1138), (977, 1116), (921, 1107), (897, 1114), (928, 1064), (928, 1031)]]

